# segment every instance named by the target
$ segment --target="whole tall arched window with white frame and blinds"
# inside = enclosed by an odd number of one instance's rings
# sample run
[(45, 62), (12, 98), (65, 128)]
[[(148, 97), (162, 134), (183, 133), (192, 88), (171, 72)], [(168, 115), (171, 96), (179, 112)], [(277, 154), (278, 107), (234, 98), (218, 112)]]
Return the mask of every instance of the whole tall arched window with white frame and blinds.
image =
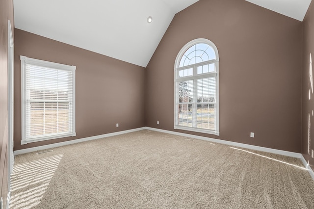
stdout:
[(219, 55), (208, 39), (187, 43), (175, 61), (174, 129), (219, 135)]

